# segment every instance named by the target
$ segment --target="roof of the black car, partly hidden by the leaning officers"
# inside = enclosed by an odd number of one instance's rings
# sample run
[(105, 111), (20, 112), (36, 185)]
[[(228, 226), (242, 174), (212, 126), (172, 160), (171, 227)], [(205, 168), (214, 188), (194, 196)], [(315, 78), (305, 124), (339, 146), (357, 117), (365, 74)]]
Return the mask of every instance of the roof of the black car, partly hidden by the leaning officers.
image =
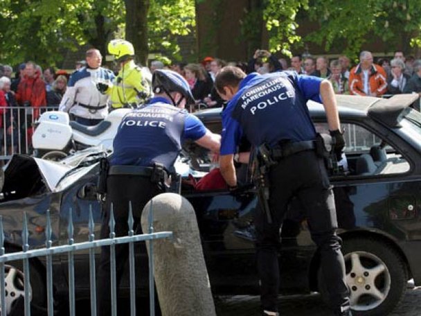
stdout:
[[(399, 127), (404, 109), (418, 99), (418, 94), (397, 94), (391, 98), (375, 98), (372, 96), (336, 95), (339, 116), (343, 119), (358, 119), (370, 116), (390, 128)], [(325, 118), (325, 109), (321, 103), (308, 101), (307, 106), (313, 119)], [(201, 121), (220, 121), (221, 108), (204, 109), (195, 112)]]

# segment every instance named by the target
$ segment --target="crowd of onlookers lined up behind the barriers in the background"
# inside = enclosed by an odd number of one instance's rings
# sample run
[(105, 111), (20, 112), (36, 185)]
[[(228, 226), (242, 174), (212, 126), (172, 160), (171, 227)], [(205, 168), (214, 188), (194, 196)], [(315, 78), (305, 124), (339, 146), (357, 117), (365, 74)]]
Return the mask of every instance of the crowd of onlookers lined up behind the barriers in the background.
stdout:
[[(249, 62), (225, 62), (220, 58), (206, 57), (201, 62), (186, 64), (174, 62), (165, 65), (159, 60), (150, 62), (150, 72), (172, 69), (186, 78), (197, 107), (220, 107), (224, 101), (213, 87), (218, 71), (226, 65), (240, 67), (244, 72), (270, 73), (296, 71), (299, 74), (327, 78), (337, 94), (361, 96), (387, 96), (391, 94), (418, 93), (421, 95), (421, 60), (405, 57), (395, 51), (393, 58), (379, 58), (374, 62), (369, 51), (362, 51), (359, 62), (351, 64), (350, 58), (341, 55), (329, 60), (323, 56), (313, 58), (293, 55), (288, 61), (276, 58), (269, 51), (258, 49)], [(75, 69), (84, 67), (77, 62)], [(14, 75), (14, 76), (13, 76)], [(13, 152), (18, 143), (25, 143), (32, 135), (32, 123), (39, 116), (39, 107), (57, 107), (66, 91), (69, 73), (54, 67), (43, 69), (35, 62), (22, 63), (13, 73), (12, 67), (0, 64), (0, 143), (2, 152)], [(26, 107), (8, 110), (8, 107)], [(19, 132), (20, 131), (20, 132)], [(12, 143), (15, 145), (12, 148)], [(6, 145), (7, 144), (7, 145)], [(7, 147), (7, 148), (6, 148)]]

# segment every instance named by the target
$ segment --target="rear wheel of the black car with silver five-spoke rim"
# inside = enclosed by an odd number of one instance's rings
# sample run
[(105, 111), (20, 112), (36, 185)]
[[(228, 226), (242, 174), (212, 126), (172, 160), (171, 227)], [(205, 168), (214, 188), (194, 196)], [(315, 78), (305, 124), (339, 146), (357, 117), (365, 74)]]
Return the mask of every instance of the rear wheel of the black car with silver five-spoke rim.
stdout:
[[(406, 290), (408, 271), (397, 251), (373, 238), (344, 240), (346, 283), (350, 288), (353, 316), (388, 315), (400, 303)], [(319, 290), (328, 303), (328, 292), (319, 269)]]

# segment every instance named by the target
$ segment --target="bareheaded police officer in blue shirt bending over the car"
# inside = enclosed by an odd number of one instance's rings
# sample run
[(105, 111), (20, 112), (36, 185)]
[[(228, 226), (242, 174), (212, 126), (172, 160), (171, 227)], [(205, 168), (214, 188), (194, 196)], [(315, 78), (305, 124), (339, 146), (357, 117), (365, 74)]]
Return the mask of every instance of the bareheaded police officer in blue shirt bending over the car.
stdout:
[[(316, 130), (307, 100), (325, 107), (334, 151), (344, 146), (332, 85), (328, 80), (283, 71), (248, 76), (237, 67), (225, 67), (215, 86), (229, 104), (222, 113), (220, 168), (226, 182), (235, 188), (233, 157), (245, 136), (255, 150), (256, 170), (264, 170), (256, 210), (256, 250), (261, 281), (263, 315), (278, 315), (278, 247), (280, 227), (292, 198), (301, 201), (312, 239), (319, 247), (321, 269), (334, 315), (350, 315), (345, 265), (337, 228), (334, 196), (321, 155), (316, 155)], [(259, 180), (260, 183), (260, 180)], [(265, 194), (267, 193), (267, 194)]]

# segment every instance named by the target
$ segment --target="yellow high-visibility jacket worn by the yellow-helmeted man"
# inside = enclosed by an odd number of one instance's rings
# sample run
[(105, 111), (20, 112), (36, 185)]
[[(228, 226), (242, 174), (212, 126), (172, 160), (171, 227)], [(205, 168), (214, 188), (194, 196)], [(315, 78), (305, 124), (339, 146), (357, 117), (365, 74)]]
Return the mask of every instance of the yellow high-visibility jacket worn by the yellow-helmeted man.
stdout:
[(107, 89), (107, 94), (110, 96), (111, 107), (118, 109), (131, 103), (138, 103), (138, 93), (141, 91), (150, 94), (150, 88), (142, 76), (141, 68), (130, 60), (120, 69), (118, 76)]

